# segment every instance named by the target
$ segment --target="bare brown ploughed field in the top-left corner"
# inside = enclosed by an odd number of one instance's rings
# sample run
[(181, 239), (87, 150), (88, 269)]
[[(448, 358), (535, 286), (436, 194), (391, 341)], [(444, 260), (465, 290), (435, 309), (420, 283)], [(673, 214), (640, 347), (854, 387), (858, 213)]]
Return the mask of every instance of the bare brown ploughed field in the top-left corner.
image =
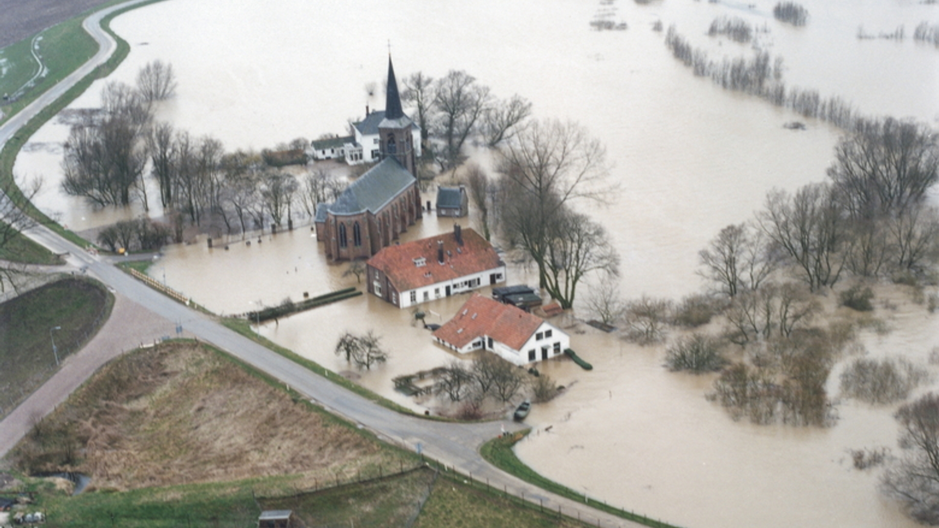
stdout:
[(108, 0), (0, 0), (0, 48)]

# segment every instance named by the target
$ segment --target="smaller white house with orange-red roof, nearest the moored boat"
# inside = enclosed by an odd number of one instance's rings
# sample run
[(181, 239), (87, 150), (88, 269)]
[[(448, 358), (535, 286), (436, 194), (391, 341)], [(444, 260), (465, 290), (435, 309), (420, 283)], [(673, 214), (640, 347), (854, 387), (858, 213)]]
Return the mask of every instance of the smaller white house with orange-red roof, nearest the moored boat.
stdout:
[(545, 319), (478, 293), (434, 332), (434, 340), (460, 353), (490, 350), (515, 365), (553, 358), (571, 346), (570, 336)]

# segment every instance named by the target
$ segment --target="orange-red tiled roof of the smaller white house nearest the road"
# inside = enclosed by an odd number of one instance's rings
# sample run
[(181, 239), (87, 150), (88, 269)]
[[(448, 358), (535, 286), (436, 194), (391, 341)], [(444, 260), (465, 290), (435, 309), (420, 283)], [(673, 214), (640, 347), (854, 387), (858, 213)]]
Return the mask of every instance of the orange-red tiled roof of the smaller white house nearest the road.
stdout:
[(513, 349), (521, 349), (544, 319), (510, 304), (502, 304), (474, 293), (436, 332), (434, 337), (462, 349), (483, 335), (488, 335)]

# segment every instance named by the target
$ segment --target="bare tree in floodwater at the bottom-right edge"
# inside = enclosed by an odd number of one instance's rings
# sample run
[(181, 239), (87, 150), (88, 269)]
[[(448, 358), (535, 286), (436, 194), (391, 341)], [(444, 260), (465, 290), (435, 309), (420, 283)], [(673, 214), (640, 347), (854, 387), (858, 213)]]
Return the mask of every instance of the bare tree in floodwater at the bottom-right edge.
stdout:
[(903, 456), (885, 472), (884, 489), (906, 503), (916, 520), (939, 524), (939, 395), (903, 405), (895, 417)]

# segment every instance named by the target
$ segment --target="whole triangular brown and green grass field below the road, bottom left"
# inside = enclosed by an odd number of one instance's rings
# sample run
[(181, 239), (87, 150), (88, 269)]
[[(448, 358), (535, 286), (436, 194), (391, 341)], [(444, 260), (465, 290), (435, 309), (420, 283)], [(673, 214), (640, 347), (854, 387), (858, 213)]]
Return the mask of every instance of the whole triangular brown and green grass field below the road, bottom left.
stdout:
[(262, 508), (292, 509), (307, 525), (416, 518), (418, 527), (584, 526), (452, 472), (435, 474), (414, 454), (190, 341), (105, 365), (10, 458), (20, 470), (93, 475), (74, 497), (23, 477), (23, 489), (38, 492), (31, 508), (46, 512), (50, 527), (251, 526)]

